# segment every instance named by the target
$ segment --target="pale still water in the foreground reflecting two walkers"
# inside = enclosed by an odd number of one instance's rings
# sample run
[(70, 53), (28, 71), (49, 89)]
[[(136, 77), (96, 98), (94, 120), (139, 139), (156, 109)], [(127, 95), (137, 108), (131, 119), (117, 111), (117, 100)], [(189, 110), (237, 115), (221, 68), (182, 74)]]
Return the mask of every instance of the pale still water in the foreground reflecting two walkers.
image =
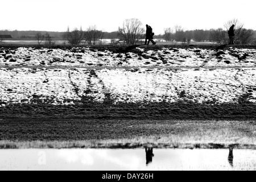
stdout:
[(0, 150), (0, 170), (256, 170), (256, 150), (12, 149)]

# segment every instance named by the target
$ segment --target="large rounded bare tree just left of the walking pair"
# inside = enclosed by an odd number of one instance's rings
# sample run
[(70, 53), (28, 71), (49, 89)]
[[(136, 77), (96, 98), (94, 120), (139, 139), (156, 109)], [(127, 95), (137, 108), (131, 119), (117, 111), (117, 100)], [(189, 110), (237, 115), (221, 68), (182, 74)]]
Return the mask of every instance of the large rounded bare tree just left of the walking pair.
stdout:
[(144, 31), (140, 20), (136, 18), (126, 19), (123, 21), (123, 26), (118, 27), (118, 36), (127, 45), (133, 45), (139, 43), (139, 39), (143, 39)]

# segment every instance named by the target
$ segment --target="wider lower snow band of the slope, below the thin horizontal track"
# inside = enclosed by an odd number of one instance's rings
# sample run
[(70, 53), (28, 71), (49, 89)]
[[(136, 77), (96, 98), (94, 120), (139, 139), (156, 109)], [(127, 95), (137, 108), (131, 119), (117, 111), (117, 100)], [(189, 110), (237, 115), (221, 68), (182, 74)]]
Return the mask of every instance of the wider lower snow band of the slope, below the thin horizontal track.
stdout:
[(256, 101), (256, 68), (246, 69), (0, 69), (1, 106), (30, 103), (34, 96), (52, 104), (73, 104), (82, 97), (103, 102)]

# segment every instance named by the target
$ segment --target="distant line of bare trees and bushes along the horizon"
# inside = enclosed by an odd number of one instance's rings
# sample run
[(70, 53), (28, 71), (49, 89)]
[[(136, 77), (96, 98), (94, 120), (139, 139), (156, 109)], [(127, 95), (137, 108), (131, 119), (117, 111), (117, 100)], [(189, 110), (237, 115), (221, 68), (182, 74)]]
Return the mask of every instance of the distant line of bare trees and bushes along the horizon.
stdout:
[[(154, 35), (154, 39), (164, 39), (168, 42), (216, 42), (227, 44), (229, 41), (229, 27), (235, 24), (234, 43), (235, 44), (256, 44), (256, 31), (243, 28), (243, 24), (237, 19), (230, 20), (224, 27), (210, 30), (185, 30), (181, 26), (164, 28), (164, 34)], [(96, 26), (89, 26), (86, 30), (74, 28), (72, 31), (67, 28), (65, 32), (53, 31), (10, 31), (0, 30), (0, 35), (11, 35), (16, 39), (34, 39), (38, 43), (45, 41), (46, 44), (52, 43), (52, 39), (68, 40), (70, 44), (101, 44), (102, 39), (122, 40), (126, 44), (142, 43), (145, 37), (145, 30), (142, 22), (138, 19), (126, 19), (117, 31), (105, 32), (97, 30)]]

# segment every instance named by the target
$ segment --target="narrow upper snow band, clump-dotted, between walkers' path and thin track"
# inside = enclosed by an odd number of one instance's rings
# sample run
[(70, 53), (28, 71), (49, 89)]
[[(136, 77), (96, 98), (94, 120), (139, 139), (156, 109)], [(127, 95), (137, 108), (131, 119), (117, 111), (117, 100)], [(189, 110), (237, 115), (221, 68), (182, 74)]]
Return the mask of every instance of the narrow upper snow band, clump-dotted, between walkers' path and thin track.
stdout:
[(213, 51), (200, 48), (162, 48), (140, 53), (113, 53), (90, 48), (35, 49), (19, 47), (0, 49), (1, 66), (67, 67), (255, 67), (256, 50), (229, 49)]

